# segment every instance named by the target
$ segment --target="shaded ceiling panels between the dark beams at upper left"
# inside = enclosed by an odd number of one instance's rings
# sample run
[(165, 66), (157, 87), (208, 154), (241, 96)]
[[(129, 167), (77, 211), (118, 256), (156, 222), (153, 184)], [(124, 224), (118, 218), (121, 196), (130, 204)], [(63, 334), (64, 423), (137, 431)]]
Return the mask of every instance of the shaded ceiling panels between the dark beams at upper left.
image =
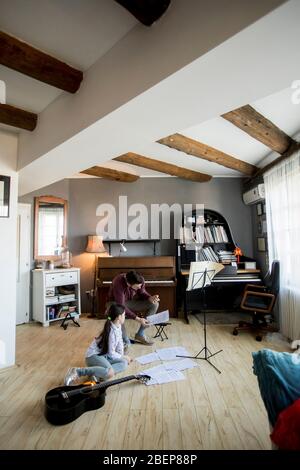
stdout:
[[(82, 71), (136, 24), (112, 0), (0, 0), (0, 30)], [(63, 93), (3, 66), (0, 79), (7, 104), (26, 111), (39, 113)]]

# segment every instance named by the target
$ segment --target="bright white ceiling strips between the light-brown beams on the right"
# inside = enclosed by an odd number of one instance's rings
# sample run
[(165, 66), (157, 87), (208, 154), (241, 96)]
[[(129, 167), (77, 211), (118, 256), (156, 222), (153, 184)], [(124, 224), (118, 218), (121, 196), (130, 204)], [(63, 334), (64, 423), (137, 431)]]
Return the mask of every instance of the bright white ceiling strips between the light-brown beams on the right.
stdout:
[[(253, 108), (272, 121), (289, 136), (296, 135), (300, 130), (300, 105), (293, 104), (291, 99), (293, 91), (292, 88), (287, 88), (266, 98), (250, 103)], [(256, 166), (260, 166), (261, 162), (271, 152), (264, 144), (221, 117), (202, 122), (188, 129), (178, 129), (177, 132)], [(135, 152), (149, 158), (163, 160), (180, 167), (186, 167), (212, 176), (241, 176), (238, 171), (197, 157), (192, 157), (156, 142), (135, 147)], [(127, 171), (141, 177), (166, 176), (157, 171), (116, 161), (101, 163), (101, 166)], [(73, 177), (79, 178), (82, 176), (83, 175), (80, 174), (73, 175)]]

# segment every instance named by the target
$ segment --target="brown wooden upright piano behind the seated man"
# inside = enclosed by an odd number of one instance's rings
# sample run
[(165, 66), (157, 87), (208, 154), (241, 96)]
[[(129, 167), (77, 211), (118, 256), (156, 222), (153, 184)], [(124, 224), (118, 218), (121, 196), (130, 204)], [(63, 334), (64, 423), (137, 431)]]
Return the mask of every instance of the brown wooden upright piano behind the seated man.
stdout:
[(159, 311), (169, 310), (171, 317), (176, 309), (176, 263), (174, 256), (141, 256), (97, 258), (97, 313), (105, 314), (108, 290), (113, 278), (120, 273), (137, 271), (145, 279), (149, 294), (160, 297)]

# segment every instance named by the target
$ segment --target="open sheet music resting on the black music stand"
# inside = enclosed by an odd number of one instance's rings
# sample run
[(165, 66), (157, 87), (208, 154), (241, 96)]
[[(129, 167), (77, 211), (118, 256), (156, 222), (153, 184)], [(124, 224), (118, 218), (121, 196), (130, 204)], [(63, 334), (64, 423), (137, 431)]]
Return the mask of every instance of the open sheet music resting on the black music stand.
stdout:
[(214, 263), (213, 261), (192, 261), (190, 264), (187, 290), (201, 289), (201, 287), (210, 285), (214, 276), (222, 271), (222, 269), (224, 269), (224, 266), (221, 263)]

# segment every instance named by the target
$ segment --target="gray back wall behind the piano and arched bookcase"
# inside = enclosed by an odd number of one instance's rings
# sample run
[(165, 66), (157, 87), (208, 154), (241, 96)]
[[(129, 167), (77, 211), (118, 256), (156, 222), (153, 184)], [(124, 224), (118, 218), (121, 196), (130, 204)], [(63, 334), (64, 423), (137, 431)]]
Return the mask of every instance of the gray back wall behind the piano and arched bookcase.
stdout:
[[(242, 179), (213, 178), (209, 183), (193, 183), (177, 178), (141, 178), (135, 183), (119, 183), (102, 179), (70, 179), (20, 198), (32, 202), (37, 195), (53, 195), (69, 200), (68, 244), (73, 264), (81, 268), (82, 311), (90, 311), (86, 290), (93, 287), (94, 255), (85, 253), (87, 235), (96, 233), (100, 220), (96, 216), (99, 204), (110, 203), (118, 209), (120, 195), (128, 197), (128, 205), (139, 202), (150, 213), (151, 204), (204, 204), (220, 212), (228, 221), (235, 243), (247, 256), (253, 256), (251, 208), (242, 201)], [(130, 218), (128, 218), (130, 220)], [(128, 256), (153, 254), (152, 244), (127, 245)], [(113, 255), (119, 254), (118, 245)], [(175, 255), (174, 240), (162, 240), (158, 254)]]

